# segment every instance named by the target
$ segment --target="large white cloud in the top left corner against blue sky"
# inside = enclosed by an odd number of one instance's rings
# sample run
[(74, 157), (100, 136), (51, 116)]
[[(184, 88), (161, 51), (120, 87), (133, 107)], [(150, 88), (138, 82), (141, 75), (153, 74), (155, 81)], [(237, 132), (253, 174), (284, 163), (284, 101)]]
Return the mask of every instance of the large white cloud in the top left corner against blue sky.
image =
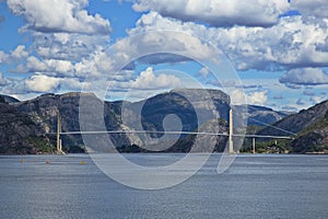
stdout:
[(9, 9), (27, 21), (24, 28), (44, 33), (68, 32), (109, 34), (110, 23), (99, 14), (90, 15), (84, 8), (89, 0), (8, 0)]

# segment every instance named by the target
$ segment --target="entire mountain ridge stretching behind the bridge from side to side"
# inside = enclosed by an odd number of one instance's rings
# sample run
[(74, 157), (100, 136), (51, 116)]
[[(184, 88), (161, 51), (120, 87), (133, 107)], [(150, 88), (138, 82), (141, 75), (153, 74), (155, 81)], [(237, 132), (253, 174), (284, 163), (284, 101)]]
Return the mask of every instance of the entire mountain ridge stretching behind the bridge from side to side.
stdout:
[[(36, 127), (40, 128), (43, 131), (38, 134), (38, 137), (42, 136), (44, 142), (49, 142), (54, 146), (56, 145), (56, 139), (50, 136), (45, 136), (44, 134), (56, 132), (57, 128), (57, 112), (60, 112), (62, 116), (62, 131), (79, 131), (80, 130), (80, 120), (79, 120), (79, 107), (80, 99), (83, 97), (86, 102), (90, 103), (90, 115), (92, 115), (92, 107), (96, 105), (103, 105), (104, 107), (104, 117), (105, 126), (107, 130), (164, 130), (165, 125), (172, 123), (168, 119), (168, 123), (165, 124), (165, 119), (171, 115), (177, 115), (181, 119), (181, 130), (185, 131), (195, 131), (198, 128), (198, 125), (206, 124), (210, 118), (223, 119), (225, 123), (219, 123), (220, 129), (222, 131), (227, 131), (229, 120), (229, 110), (230, 110), (230, 96), (219, 90), (192, 90), (192, 89), (183, 89), (183, 90), (173, 90), (169, 92), (156, 94), (149, 99), (142, 100), (140, 102), (127, 102), (127, 101), (115, 101), (107, 102), (99, 100), (93, 93), (81, 93), (81, 92), (70, 92), (65, 94), (54, 94), (47, 93), (39, 95), (32, 100), (26, 100), (22, 102), (10, 103), (10, 106), (16, 111), (21, 116), (26, 116), (31, 123), (34, 123)], [(192, 104), (191, 104), (192, 103)], [(4, 103), (2, 103), (4, 104)], [(8, 103), (7, 103), (8, 104)], [(234, 106), (242, 107), (242, 106)], [(125, 112), (122, 112), (122, 108)], [(195, 111), (195, 108), (197, 111)], [(278, 128), (284, 129), (281, 124), (293, 124), (291, 126), (296, 126), (292, 122), (302, 122), (302, 126), (297, 127), (296, 130), (298, 136), (297, 140), (303, 139), (303, 141), (292, 141), (291, 145), (296, 152), (307, 152), (307, 150), (313, 149), (298, 149), (297, 145), (304, 145), (307, 142), (304, 139), (308, 139), (306, 136), (308, 132), (302, 132), (306, 128), (311, 128), (311, 125), (320, 123), (320, 119), (326, 118), (325, 113), (323, 112), (328, 108), (328, 101), (317, 104), (308, 110), (298, 112), (297, 114), (286, 115), (282, 112), (276, 112), (272, 108), (266, 106), (247, 106), (247, 115), (249, 116), (248, 125), (260, 126), (262, 124), (273, 123)], [(199, 113), (199, 120), (196, 119), (196, 114)], [(86, 112), (87, 113), (87, 112)], [(124, 118), (122, 115), (128, 113), (127, 117)], [(138, 115), (140, 113), (140, 120), (133, 120), (131, 116)], [(3, 113), (2, 113), (3, 114)], [(301, 115), (301, 118), (297, 118)], [(319, 116), (317, 118), (312, 118), (312, 116)], [(130, 117), (129, 117), (130, 116)], [(173, 117), (175, 119), (175, 117)], [(281, 119), (282, 118), (282, 119)], [(304, 122), (304, 118), (311, 118), (308, 122)], [(92, 117), (90, 118), (92, 122)], [(131, 124), (124, 124), (124, 119), (131, 120)], [(254, 119), (254, 120), (251, 120)], [(134, 123), (136, 122), (136, 123)], [(139, 126), (134, 127), (134, 124), (139, 123)], [(199, 123), (200, 122), (200, 123)], [(214, 122), (218, 123), (218, 122)], [(324, 125), (326, 120), (321, 122)], [(141, 125), (140, 125), (141, 124)], [(211, 123), (208, 123), (211, 124)], [(175, 123), (173, 124), (175, 126)], [(213, 124), (212, 124), (213, 125)], [(212, 126), (210, 125), (210, 126)], [(177, 127), (174, 127), (177, 128)], [(323, 129), (323, 128), (321, 128)], [(293, 130), (293, 129), (292, 129)], [(326, 129), (325, 129), (326, 130)], [(257, 131), (258, 135), (277, 135), (276, 129), (272, 128), (261, 128), (260, 131)], [(309, 131), (311, 132), (311, 131)], [(316, 135), (318, 130), (314, 131)], [(323, 139), (318, 143), (326, 143), (326, 132), (319, 132), (320, 138)], [(14, 135), (11, 132), (11, 135)], [(36, 135), (36, 134), (35, 134)], [(280, 132), (278, 136), (285, 136), (285, 132)], [(291, 135), (291, 134), (289, 134)], [(328, 135), (328, 134), (327, 134)], [(2, 135), (3, 136), (3, 135)], [(36, 135), (37, 136), (37, 135)], [(159, 138), (162, 135), (152, 134), (152, 138)], [(116, 146), (116, 148), (121, 152), (138, 152), (142, 151), (138, 149), (138, 145), (142, 145), (142, 139), (138, 135), (126, 135), (126, 134), (116, 134), (109, 135), (110, 140)], [(301, 138), (302, 137), (302, 138)], [(84, 152), (84, 142), (81, 135), (65, 135), (62, 136), (63, 148), (68, 152)], [(181, 136), (180, 139), (172, 146), (171, 149), (167, 149), (166, 152), (186, 152), (188, 147), (192, 143), (192, 138), (186, 135)], [(226, 138), (222, 138), (216, 142), (215, 151), (221, 151), (222, 147), (225, 146)], [(294, 143), (294, 145), (293, 145)], [(133, 147), (134, 148), (133, 148)], [(17, 146), (19, 147), (19, 146)], [(131, 148), (132, 147), (132, 148)], [(302, 148), (302, 147), (301, 147)], [(325, 148), (325, 147), (324, 147)], [(138, 150), (137, 150), (138, 149)], [(323, 147), (320, 147), (323, 149)], [(51, 152), (51, 150), (49, 150)], [(315, 151), (318, 151), (316, 149)], [(30, 151), (31, 152), (31, 151)], [(37, 153), (37, 151), (34, 151)], [(31, 152), (33, 153), (33, 151)]]

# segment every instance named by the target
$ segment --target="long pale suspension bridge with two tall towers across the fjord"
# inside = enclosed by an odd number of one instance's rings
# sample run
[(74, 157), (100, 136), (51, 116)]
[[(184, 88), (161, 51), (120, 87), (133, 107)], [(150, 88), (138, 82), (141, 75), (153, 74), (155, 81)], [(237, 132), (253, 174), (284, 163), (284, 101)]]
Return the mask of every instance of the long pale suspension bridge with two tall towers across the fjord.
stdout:
[[(242, 134), (234, 134), (234, 126), (233, 126), (233, 110), (230, 110), (229, 113), (230, 123), (229, 123), (229, 132), (207, 132), (207, 131), (174, 131), (174, 130), (101, 130), (101, 131), (62, 131), (61, 130), (61, 116), (60, 113), (57, 112), (57, 152), (59, 154), (63, 154), (62, 151), (62, 141), (61, 136), (62, 135), (98, 135), (98, 134), (163, 134), (163, 135), (208, 135), (208, 136), (225, 136), (229, 137), (229, 153), (236, 153), (234, 151), (234, 137), (242, 137), (242, 138), (251, 138), (253, 139), (253, 153), (256, 152), (256, 139), (257, 138), (270, 138), (270, 139), (294, 139), (291, 136), (270, 136), (270, 135), (242, 135)], [(268, 124), (267, 124), (268, 125)], [(291, 135), (295, 135), (291, 131), (274, 127), (272, 125), (269, 125), (272, 128), (277, 128), (278, 130), (285, 131)], [(54, 132), (51, 132), (54, 134)], [(276, 142), (277, 145), (277, 142)]]

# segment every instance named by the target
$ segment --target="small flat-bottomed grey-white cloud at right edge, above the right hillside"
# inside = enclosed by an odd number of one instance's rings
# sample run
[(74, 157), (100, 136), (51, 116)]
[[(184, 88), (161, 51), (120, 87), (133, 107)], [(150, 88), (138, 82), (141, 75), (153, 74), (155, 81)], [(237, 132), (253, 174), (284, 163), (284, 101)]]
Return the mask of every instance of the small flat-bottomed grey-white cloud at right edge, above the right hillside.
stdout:
[(286, 85), (320, 85), (328, 84), (328, 74), (323, 69), (293, 69), (279, 79)]

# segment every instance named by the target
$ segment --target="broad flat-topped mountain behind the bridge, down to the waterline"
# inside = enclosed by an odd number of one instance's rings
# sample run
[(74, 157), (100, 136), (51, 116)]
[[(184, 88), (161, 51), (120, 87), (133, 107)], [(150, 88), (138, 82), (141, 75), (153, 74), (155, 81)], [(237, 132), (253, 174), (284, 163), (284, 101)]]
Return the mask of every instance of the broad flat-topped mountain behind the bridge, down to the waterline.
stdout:
[[(157, 94), (141, 102), (126, 103), (122, 108), (122, 122), (127, 127), (126, 129), (129, 130), (197, 131), (200, 128), (213, 132), (211, 129), (216, 127), (219, 131), (226, 132), (227, 124), (222, 120), (227, 119), (230, 96), (218, 90), (179, 89)], [(156, 142), (157, 138), (161, 138), (160, 142)], [(178, 137), (177, 135), (163, 136), (163, 134), (151, 132), (150, 138), (134, 138), (131, 141), (131, 147), (122, 146), (118, 149), (125, 152), (147, 151), (142, 148), (151, 148), (156, 151), (186, 152), (195, 145), (195, 135), (180, 135)], [(203, 139), (202, 142), (207, 142), (204, 136), (201, 136), (200, 139)], [(222, 145), (225, 146), (225, 138), (218, 138), (213, 147), (219, 150)], [(197, 147), (192, 148), (192, 151), (203, 152), (208, 148), (200, 145), (198, 139)], [(137, 146), (142, 148), (138, 149)], [(168, 146), (171, 147), (166, 148)]]

